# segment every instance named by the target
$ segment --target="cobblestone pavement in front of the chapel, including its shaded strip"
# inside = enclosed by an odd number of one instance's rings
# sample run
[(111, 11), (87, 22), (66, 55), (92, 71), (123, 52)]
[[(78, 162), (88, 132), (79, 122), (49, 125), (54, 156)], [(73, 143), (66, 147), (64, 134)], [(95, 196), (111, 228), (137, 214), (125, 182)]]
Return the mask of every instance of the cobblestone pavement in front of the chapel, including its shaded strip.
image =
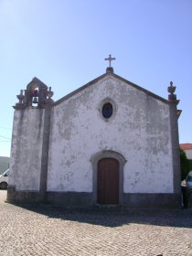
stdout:
[(0, 256), (192, 256), (192, 208), (85, 210), (5, 203), (0, 191)]

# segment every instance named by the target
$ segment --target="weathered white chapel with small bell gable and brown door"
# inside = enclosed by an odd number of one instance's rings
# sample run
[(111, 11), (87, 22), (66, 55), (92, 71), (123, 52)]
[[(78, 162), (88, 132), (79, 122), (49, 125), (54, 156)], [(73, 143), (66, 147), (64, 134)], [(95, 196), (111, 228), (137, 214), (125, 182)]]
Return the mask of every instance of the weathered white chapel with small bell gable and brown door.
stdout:
[(167, 101), (109, 67), (53, 102), (33, 79), (17, 95), (7, 200), (180, 207), (174, 91)]

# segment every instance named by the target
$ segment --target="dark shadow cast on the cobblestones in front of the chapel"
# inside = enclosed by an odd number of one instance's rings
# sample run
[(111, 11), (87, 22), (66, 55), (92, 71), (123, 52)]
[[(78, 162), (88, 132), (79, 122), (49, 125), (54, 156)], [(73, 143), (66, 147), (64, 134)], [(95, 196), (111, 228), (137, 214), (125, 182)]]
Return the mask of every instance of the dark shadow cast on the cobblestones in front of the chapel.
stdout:
[(116, 209), (116, 208), (59, 208), (47, 204), (15, 204), (52, 219), (62, 219), (100, 225), (120, 227), (130, 223), (192, 228), (192, 208), (187, 209)]

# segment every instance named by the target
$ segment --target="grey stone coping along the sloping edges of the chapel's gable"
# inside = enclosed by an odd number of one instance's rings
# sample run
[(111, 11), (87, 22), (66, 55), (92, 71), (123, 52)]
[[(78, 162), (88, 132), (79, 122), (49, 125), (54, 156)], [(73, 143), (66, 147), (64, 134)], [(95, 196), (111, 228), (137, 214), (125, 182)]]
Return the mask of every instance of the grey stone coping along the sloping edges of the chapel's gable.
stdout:
[[(61, 103), (62, 101), (66, 101), (67, 99), (69, 99), (70, 97), (72, 97), (73, 95), (75, 95), (76, 93), (83, 91), (84, 89), (88, 88), (89, 86), (93, 85), (94, 83), (98, 82), (99, 80), (102, 80), (103, 78), (107, 77), (107, 76), (111, 76), (117, 80), (122, 80), (123, 82), (125, 82), (126, 84), (128, 84), (129, 86), (132, 86), (133, 88), (140, 90), (140, 91), (144, 91), (144, 93), (146, 93), (149, 96), (154, 97), (155, 99), (159, 100), (159, 101), (163, 101), (165, 103), (169, 103), (168, 100), (165, 100), (164, 98), (156, 95), (155, 93), (151, 92), (151, 91), (147, 91), (145, 90), (143, 87), (129, 81), (129, 80), (125, 80), (122, 77), (112, 73), (112, 72), (106, 72), (104, 74), (102, 74), (100, 77), (91, 80), (90, 82), (86, 83), (85, 85), (81, 86), (79, 89), (70, 92), (69, 94), (67, 94), (66, 96), (62, 97), (61, 99), (59, 99), (58, 101), (55, 101), (54, 105), (58, 105), (59, 103)], [(178, 101), (176, 101), (176, 103), (178, 103)]]

